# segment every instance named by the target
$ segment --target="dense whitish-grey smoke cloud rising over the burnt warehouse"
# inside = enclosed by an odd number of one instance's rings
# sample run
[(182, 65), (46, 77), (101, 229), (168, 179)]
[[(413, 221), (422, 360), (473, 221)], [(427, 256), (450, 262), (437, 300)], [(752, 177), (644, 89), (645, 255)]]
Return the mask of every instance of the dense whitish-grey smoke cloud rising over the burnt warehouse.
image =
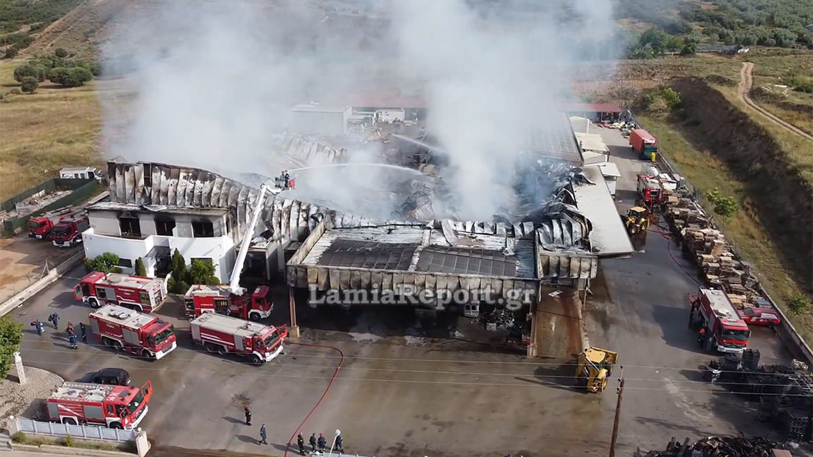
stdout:
[[(272, 134), (285, 129), (293, 104), (376, 91), (371, 81), (385, 81), (424, 92), (428, 130), (450, 156), (444, 177), (459, 216), (490, 220), (526, 139), (558, 115), (554, 102), (578, 60), (597, 49), (603, 59), (615, 57), (606, 46), (610, 2), (163, 0), (144, 20), (124, 19), (105, 49), (108, 59), (132, 55), (137, 67), (129, 124), (115, 121), (122, 105), (106, 103), (106, 152), (232, 176), (274, 175)], [(344, 14), (350, 9), (373, 19)], [(353, 150), (354, 160), (385, 147)], [(298, 179), (300, 197), (341, 200), (352, 211), (376, 181), (393, 181), (386, 173), (309, 172)], [(362, 181), (360, 189), (348, 186)], [(375, 212), (389, 213), (393, 202), (380, 206)]]

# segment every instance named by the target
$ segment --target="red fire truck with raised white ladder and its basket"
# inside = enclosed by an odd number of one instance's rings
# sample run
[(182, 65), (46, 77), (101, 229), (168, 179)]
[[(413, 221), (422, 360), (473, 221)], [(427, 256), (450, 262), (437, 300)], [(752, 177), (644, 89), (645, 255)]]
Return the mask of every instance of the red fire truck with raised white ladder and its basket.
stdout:
[(234, 263), (232, 276), (228, 285), (192, 285), (184, 295), (184, 308), (187, 318), (194, 319), (207, 312), (217, 312), (226, 316), (240, 317), (248, 320), (261, 320), (271, 316), (274, 303), (271, 289), (260, 285), (253, 293), (240, 286), (240, 276), (246, 255), (249, 251), (251, 238), (254, 237), (254, 228), (257, 227), (259, 215), (263, 212), (263, 203), (266, 194), (279, 194), (283, 190), (293, 189), (293, 179), (288, 172), (276, 178), (276, 185), (269, 189), (267, 185), (260, 185), (259, 194), (254, 202), (254, 211), (251, 220), (243, 234), (237, 261)]

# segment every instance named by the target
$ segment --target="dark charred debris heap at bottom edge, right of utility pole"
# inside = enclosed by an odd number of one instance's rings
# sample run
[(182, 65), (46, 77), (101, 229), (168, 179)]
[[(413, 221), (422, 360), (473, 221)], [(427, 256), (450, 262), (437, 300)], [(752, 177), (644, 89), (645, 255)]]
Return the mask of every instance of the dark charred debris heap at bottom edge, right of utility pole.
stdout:
[(633, 457), (774, 457), (773, 450), (785, 450), (786, 446), (763, 437), (705, 437), (689, 444), (672, 441), (666, 450), (650, 450), (647, 453), (638, 448)]

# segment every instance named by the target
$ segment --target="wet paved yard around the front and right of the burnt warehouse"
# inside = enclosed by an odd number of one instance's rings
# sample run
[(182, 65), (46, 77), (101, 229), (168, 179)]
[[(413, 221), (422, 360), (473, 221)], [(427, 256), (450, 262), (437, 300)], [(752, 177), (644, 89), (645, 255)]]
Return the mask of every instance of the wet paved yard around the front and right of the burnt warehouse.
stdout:
[[(634, 259), (606, 261), (593, 287), (588, 316), (593, 344), (619, 350), (626, 365), (620, 450), (659, 446), (673, 435), (759, 430), (753, 415), (743, 413), (746, 403), (712, 393), (697, 380), (697, 365), (710, 356), (696, 350), (685, 327), (685, 294), (694, 285), (668, 258), (665, 240), (659, 240), (648, 240), (646, 253)], [(11, 316), (28, 323), (57, 311), (63, 324), (86, 321), (89, 308), (75, 302), (70, 290), (81, 274), (77, 269)], [(321, 329), (306, 329), (300, 342), (335, 346), (345, 361), (302, 428), (306, 437), (341, 429), (346, 449), (361, 455), (606, 451), (615, 392), (572, 390), (572, 366), (561, 360), (484, 352), (475, 343), (438, 344), (414, 336), (420, 327), (415, 322), (395, 335), (402, 324), (376, 313), (346, 316), (353, 325), (348, 327), (331, 315), (338, 311), (327, 312), (322, 318), (302, 318)], [(335, 350), (288, 345), (275, 363), (254, 368), (189, 348), (188, 324), (177, 319), (180, 303), (167, 303), (159, 314), (176, 324), (181, 344), (158, 362), (90, 345), (72, 351), (63, 333), (47, 330), (37, 337), (28, 327), (23, 356), (66, 379), (104, 367), (127, 368), (134, 383), (149, 380), (155, 386), (142, 426), (159, 446), (243, 453), (271, 452), (254, 442), (259, 424), (267, 426), (269, 447), (283, 449), (341, 360)], [(285, 312), (280, 310), (276, 319), (284, 320)], [(337, 322), (341, 329), (330, 329), (328, 323)], [(463, 337), (468, 331), (463, 329)], [(769, 333), (757, 332), (753, 344), (766, 361), (782, 356)], [(254, 411), (254, 427), (241, 424), (246, 402)]]

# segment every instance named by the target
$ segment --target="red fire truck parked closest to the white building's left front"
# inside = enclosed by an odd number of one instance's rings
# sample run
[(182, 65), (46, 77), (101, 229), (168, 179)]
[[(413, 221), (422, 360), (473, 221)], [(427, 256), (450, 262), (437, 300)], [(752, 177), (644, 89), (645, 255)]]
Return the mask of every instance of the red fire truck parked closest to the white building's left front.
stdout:
[(73, 294), (94, 308), (112, 304), (149, 313), (167, 301), (167, 279), (91, 272), (73, 288)]

